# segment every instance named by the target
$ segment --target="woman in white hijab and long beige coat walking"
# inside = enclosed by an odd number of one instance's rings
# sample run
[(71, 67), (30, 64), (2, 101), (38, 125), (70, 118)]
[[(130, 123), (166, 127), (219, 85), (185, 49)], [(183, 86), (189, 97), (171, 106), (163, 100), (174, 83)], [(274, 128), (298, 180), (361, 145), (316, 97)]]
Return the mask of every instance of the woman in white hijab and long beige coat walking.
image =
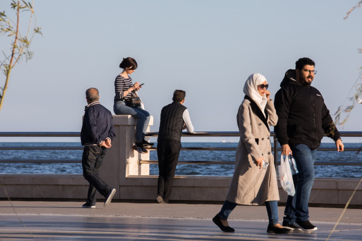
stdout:
[(244, 85), (245, 97), (237, 113), (240, 141), (235, 156), (235, 171), (226, 200), (220, 212), (212, 219), (224, 232), (229, 227), (228, 216), (240, 205), (260, 205), (265, 202), (269, 217), (268, 233), (289, 233), (278, 222), (279, 192), (277, 174), (271, 154), (269, 125), (276, 125), (273, 100), (270, 100), (268, 82), (261, 74), (252, 74)]

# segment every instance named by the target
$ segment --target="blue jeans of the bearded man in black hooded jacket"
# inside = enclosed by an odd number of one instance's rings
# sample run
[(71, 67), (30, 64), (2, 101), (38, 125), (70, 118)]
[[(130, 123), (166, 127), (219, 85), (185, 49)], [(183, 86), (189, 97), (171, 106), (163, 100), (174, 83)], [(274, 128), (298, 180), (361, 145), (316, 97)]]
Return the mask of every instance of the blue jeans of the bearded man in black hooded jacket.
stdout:
[(293, 224), (295, 221), (306, 221), (309, 218), (308, 201), (314, 182), (317, 150), (311, 150), (304, 144), (291, 146), (290, 149), (299, 172), (293, 175), (295, 195), (288, 196), (283, 223)]

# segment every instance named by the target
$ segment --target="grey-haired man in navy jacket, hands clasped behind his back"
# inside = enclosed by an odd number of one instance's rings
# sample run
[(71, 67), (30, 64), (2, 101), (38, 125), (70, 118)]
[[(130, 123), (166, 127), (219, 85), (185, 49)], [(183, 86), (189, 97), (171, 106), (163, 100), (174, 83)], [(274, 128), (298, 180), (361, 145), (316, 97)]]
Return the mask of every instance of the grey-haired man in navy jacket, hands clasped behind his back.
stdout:
[(115, 189), (99, 177), (99, 172), (106, 151), (111, 147), (111, 141), (115, 137), (112, 114), (100, 104), (96, 88), (89, 88), (85, 91), (85, 96), (88, 106), (85, 107), (80, 139), (84, 146), (83, 176), (89, 182), (89, 189), (87, 202), (82, 207), (96, 207), (96, 190), (106, 198), (106, 207), (111, 202)]

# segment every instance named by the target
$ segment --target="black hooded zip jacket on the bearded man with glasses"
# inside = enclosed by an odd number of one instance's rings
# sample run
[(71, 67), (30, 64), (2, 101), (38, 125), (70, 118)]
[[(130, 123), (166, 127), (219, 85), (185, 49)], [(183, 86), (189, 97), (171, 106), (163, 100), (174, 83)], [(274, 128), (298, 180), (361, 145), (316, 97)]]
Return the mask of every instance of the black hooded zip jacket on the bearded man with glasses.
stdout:
[(305, 144), (312, 150), (320, 146), (324, 134), (334, 141), (340, 138), (321, 93), (312, 86), (295, 81), (295, 70), (289, 69), (275, 94), (278, 123), (274, 133), (280, 145)]

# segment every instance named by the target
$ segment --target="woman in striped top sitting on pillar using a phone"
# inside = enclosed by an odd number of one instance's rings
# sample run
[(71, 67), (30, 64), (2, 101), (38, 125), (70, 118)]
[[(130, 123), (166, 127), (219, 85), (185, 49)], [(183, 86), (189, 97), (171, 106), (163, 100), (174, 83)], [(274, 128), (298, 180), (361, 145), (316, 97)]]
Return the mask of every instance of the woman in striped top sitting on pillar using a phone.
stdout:
[(127, 99), (131, 97), (131, 92), (138, 91), (142, 88), (139, 82), (132, 84), (132, 79), (128, 76), (135, 72), (137, 62), (131, 57), (123, 58), (122, 63), (119, 64), (119, 68), (122, 68), (123, 71), (114, 81), (115, 96), (113, 111), (116, 115), (131, 115), (137, 118), (136, 143), (132, 148), (139, 153), (147, 153), (148, 151), (145, 148), (153, 146), (153, 143), (149, 143), (144, 139), (148, 122), (150, 122), (150, 113), (140, 106), (134, 108), (127, 106)]

